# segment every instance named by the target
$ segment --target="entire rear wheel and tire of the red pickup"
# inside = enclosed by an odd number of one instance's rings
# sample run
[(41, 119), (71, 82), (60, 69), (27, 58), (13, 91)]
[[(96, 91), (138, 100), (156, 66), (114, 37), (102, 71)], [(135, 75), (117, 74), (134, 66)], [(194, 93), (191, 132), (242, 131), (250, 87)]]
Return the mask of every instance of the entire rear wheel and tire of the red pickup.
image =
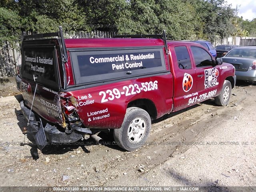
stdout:
[(127, 108), (120, 129), (114, 129), (114, 140), (127, 151), (140, 148), (148, 138), (151, 119), (145, 110), (138, 107)]

